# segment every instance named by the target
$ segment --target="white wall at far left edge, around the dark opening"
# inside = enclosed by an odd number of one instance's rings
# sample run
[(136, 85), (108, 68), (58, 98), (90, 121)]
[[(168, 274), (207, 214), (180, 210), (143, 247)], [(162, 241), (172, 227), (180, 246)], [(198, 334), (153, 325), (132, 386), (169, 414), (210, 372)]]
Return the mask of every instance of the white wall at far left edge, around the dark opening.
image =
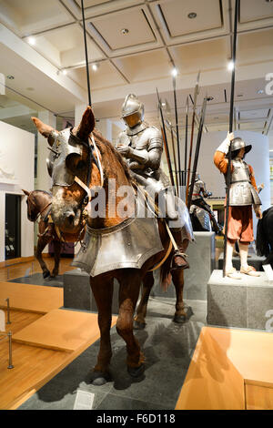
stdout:
[[(34, 189), (35, 135), (0, 121), (0, 262), (5, 260), (5, 194)], [(34, 254), (34, 227), (21, 199), (21, 257)]]

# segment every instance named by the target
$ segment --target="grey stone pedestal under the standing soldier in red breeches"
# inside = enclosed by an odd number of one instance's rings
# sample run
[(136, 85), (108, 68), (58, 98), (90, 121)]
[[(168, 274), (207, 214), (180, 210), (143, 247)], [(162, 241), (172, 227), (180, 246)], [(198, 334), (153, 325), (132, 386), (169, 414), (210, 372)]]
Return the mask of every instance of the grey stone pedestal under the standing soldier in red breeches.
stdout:
[(207, 324), (267, 330), (272, 315), (273, 284), (265, 272), (232, 280), (223, 278), (222, 270), (213, 271), (207, 283)]

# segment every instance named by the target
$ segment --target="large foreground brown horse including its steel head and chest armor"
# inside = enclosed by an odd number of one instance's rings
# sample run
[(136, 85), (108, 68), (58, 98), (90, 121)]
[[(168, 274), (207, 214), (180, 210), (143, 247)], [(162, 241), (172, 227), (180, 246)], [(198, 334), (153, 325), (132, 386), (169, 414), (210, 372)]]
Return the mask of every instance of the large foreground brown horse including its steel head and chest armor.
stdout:
[[(138, 377), (144, 372), (145, 357), (133, 331), (134, 312), (141, 283), (144, 287), (151, 283), (150, 270), (162, 260), (162, 282), (169, 282), (173, 248), (166, 223), (157, 217), (131, 215), (140, 204), (136, 199), (133, 202), (130, 199), (124, 211), (120, 212), (120, 205), (125, 199), (122, 190), (129, 192), (129, 189), (134, 189), (134, 181), (116, 148), (95, 129), (91, 107), (86, 108), (78, 127), (61, 132), (35, 117), (33, 120), (51, 146), (49, 163), (53, 178), (52, 218), (55, 224), (63, 232), (73, 233), (76, 221), (86, 219), (86, 236), (73, 265), (90, 274), (98, 310), (100, 348), (91, 381), (100, 385), (109, 380), (114, 279), (119, 282), (116, 331), (126, 341), (127, 371)], [(101, 198), (105, 198), (103, 213), (99, 212), (99, 203), (96, 206), (100, 193)], [(185, 321), (183, 270), (174, 270), (172, 280), (177, 290), (176, 316)], [(145, 301), (146, 298), (142, 300), (143, 305)], [(144, 314), (145, 310), (138, 309), (137, 315), (139, 313)], [(143, 321), (141, 317), (138, 320)]]

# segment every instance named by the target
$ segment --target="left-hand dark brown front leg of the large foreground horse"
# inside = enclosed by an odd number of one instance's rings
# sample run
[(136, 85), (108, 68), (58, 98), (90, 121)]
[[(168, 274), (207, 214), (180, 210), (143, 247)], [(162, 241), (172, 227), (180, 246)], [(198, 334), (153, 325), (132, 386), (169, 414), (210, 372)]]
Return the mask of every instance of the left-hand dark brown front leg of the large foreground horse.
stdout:
[(98, 311), (97, 321), (100, 330), (100, 347), (96, 366), (91, 374), (91, 381), (93, 385), (103, 385), (110, 379), (108, 366), (112, 357), (110, 328), (112, 322), (114, 279), (97, 280), (90, 278), (90, 285), (96, 300)]

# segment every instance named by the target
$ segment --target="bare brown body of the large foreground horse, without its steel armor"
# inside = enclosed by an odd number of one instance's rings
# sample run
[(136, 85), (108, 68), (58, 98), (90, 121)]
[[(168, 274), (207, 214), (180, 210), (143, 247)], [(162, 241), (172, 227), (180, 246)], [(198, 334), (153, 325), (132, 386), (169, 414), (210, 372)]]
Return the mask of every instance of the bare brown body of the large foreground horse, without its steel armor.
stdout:
[[(64, 140), (64, 131), (62, 135), (58, 134), (56, 130), (43, 124), (39, 119), (33, 117), (35, 126), (38, 131), (47, 138), (51, 147), (54, 145), (56, 151), (56, 161), (62, 158), (62, 141)], [(106, 211), (105, 215), (96, 218), (88, 217), (87, 224), (92, 229), (105, 229), (109, 227), (117, 227), (125, 221), (124, 217), (120, 217), (117, 209), (116, 214), (109, 212), (109, 196), (108, 187), (109, 180), (113, 178), (116, 180), (116, 206), (122, 200), (117, 197), (118, 189), (122, 186), (132, 187), (133, 182), (130, 172), (126, 167), (126, 163), (114, 148), (102, 135), (94, 128), (95, 118), (91, 107), (86, 108), (86, 112), (82, 117), (82, 121), (77, 128), (71, 128), (69, 141), (72, 140), (70, 148), (74, 147), (81, 150), (77, 153), (70, 153), (64, 160), (66, 166), (67, 185), (60, 185), (61, 180), (55, 182), (55, 170), (53, 164), (53, 199), (52, 199), (52, 217), (62, 231), (70, 231), (75, 233), (78, 225), (78, 219), (82, 219), (79, 213), (83, 213), (86, 208), (86, 189), (81, 183), (87, 183), (91, 189), (93, 187), (103, 186), (106, 190)], [(96, 141), (97, 151), (94, 151), (93, 158), (90, 163), (90, 148), (92, 139), (90, 134)], [(59, 139), (58, 139), (59, 135)], [(63, 138), (63, 139), (62, 139)], [(76, 145), (75, 142), (78, 142)], [(66, 146), (67, 147), (67, 146)], [(59, 150), (59, 151), (57, 151)], [(99, 168), (99, 163), (103, 171)], [(58, 164), (60, 165), (60, 164)], [(89, 168), (89, 177), (88, 177)], [(75, 180), (71, 180), (72, 175)], [(102, 183), (103, 174), (103, 183)], [(60, 177), (60, 176), (59, 176)], [(69, 179), (68, 179), (68, 178)], [(89, 179), (90, 178), (90, 179)], [(89, 181), (89, 183), (88, 183)], [(111, 195), (110, 195), (111, 196)], [(113, 195), (112, 195), (113, 196)], [(131, 376), (137, 377), (144, 371), (144, 354), (140, 350), (140, 346), (133, 332), (134, 311), (136, 308), (136, 301), (138, 299), (141, 283), (144, 283), (144, 289), (147, 290), (146, 296), (142, 299), (142, 307), (138, 309), (136, 321), (144, 322), (145, 319), (145, 306), (147, 303), (148, 293), (151, 288), (153, 280), (152, 272), (149, 272), (157, 263), (162, 260), (169, 249), (169, 236), (165, 222), (158, 219), (158, 230), (160, 239), (164, 250), (157, 252), (156, 255), (150, 257), (142, 265), (141, 269), (116, 269), (109, 270), (105, 273), (90, 276), (90, 285), (96, 299), (98, 309), (98, 325), (100, 329), (100, 349), (97, 356), (97, 362), (94, 371), (92, 372), (92, 382), (94, 384), (103, 384), (109, 379), (108, 367), (112, 356), (111, 342), (110, 342), (110, 328), (112, 319), (112, 297), (113, 297), (113, 283), (114, 279), (119, 282), (119, 313), (116, 321), (117, 333), (126, 341), (127, 351), (127, 370)], [(137, 236), (136, 236), (137, 239)], [(163, 280), (169, 277), (170, 256), (163, 264)], [(111, 254), (108, 256), (111, 258)], [(186, 312), (184, 311), (183, 303), (183, 270), (174, 270), (172, 279), (177, 289), (177, 305), (176, 316), (177, 319), (185, 321)]]

